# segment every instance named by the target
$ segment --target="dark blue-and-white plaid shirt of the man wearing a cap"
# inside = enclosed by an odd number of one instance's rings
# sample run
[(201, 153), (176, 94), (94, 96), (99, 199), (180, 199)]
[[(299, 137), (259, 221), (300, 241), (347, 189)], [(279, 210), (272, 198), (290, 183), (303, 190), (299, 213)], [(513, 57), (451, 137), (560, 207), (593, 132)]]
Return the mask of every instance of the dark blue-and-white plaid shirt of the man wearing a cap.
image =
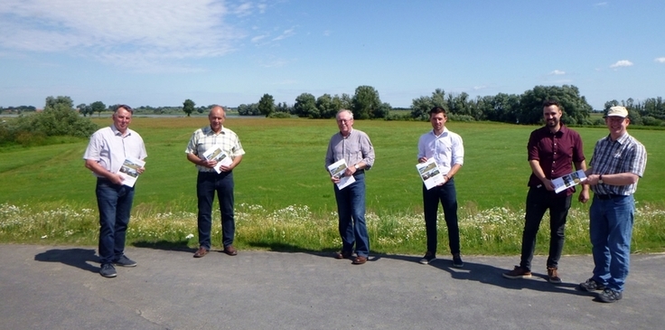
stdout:
[[(647, 165), (647, 151), (640, 141), (624, 134), (612, 141), (607, 136), (595, 143), (591, 157), (592, 174), (632, 173), (642, 177)], [(637, 183), (628, 185), (596, 184), (591, 186), (595, 194), (630, 195), (637, 190)]]

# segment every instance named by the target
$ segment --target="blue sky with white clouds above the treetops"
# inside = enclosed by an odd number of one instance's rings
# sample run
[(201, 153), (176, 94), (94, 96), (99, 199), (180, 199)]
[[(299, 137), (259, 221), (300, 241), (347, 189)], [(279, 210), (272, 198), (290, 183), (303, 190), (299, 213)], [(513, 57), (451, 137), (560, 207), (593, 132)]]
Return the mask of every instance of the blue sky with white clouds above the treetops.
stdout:
[(0, 106), (236, 107), (265, 93), (393, 107), (575, 85), (595, 109), (665, 97), (665, 2), (3, 0)]

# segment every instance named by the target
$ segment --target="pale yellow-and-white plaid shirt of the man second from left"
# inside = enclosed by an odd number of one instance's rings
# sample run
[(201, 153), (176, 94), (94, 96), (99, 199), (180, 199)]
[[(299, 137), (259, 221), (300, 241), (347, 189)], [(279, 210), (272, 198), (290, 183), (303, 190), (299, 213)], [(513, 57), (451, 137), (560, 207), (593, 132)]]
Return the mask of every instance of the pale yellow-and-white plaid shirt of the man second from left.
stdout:
[[(203, 153), (205, 153), (212, 146), (219, 145), (221, 150), (235, 159), (237, 156), (245, 155), (245, 150), (240, 145), (240, 139), (236, 133), (226, 127), (221, 127), (220, 133), (215, 133), (210, 126), (202, 127), (197, 129), (192, 138), (190, 138), (190, 143), (187, 144), (187, 149), (185, 153), (194, 154), (199, 158), (203, 158)], [(196, 165), (196, 168), (200, 172), (214, 172), (212, 168), (205, 166)]]

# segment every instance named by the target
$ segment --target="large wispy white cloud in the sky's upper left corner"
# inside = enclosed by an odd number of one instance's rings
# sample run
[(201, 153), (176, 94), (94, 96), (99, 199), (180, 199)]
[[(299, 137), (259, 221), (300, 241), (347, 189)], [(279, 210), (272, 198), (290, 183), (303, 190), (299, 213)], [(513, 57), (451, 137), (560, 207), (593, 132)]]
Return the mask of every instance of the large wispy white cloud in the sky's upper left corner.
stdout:
[[(215, 0), (3, 0), (0, 47), (64, 52), (131, 68), (169, 67), (189, 58), (217, 57), (245, 37), (225, 22), (233, 12)], [(175, 64), (175, 65), (173, 65)]]

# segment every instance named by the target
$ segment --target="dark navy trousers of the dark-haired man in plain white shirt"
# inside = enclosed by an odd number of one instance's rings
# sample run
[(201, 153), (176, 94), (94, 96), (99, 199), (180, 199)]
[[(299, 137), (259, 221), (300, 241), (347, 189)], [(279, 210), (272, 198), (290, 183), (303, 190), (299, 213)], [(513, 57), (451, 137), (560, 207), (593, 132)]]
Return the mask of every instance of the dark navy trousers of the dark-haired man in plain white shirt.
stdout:
[(448, 245), (450, 253), (460, 253), (460, 228), (457, 225), (457, 192), (454, 189), (454, 178), (444, 185), (427, 190), (423, 184), (423, 210), (425, 212), (425, 230), (427, 234), (427, 250), (436, 254), (436, 212), (439, 202), (444, 207), (445, 225), (448, 227)]

